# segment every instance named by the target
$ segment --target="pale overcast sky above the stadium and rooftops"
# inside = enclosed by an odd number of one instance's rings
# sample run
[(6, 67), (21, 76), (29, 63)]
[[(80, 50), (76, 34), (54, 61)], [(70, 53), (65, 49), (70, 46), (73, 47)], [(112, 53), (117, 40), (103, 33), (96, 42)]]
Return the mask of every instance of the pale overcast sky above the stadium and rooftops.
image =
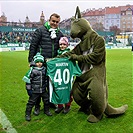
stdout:
[(38, 22), (43, 11), (45, 19), (49, 19), (52, 13), (58, 13), (61, 20), (74, 16), (76, 6), (80, 11), (86, 9), (98, 9), (111, 6), (133, 5), (131, 0), (4, 0), (0, 1), (0, 16), (4, 13), (7, 21), (25, 21), (26, 16), (30, 21)]

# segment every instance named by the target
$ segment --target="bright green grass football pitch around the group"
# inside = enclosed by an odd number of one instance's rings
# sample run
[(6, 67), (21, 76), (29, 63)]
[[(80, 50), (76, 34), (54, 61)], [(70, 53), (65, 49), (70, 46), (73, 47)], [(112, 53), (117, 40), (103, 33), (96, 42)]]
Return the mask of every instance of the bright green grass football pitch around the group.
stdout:
[[(79, 106), (73, 101), (71, 111), (52, 117), (41, 112), (32, 114), (30, 122), (25, 121), (25, 107), (28, 95), (22, 77), (29, 69), (28, 51), (0, 52), (0, 108), (6, 114), (18, 133), (131, 133), (133, 130), (132, 105), (132, 52), (129, 49), (106, 50), (108, 101), (114, 107), (128, 104), (126, 113), (117, 118), (105, 115), (98, 123), (87, 122), (87, 115), (78, 112)], [(0, 132), (4, 133), (2, 125)]]

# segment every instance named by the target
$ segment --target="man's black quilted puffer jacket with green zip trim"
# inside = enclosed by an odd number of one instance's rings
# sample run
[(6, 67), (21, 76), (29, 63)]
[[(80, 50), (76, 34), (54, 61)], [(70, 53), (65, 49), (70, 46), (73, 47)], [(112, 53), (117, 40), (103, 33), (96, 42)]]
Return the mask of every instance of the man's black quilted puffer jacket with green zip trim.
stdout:
[(32, 61), (33, 56), (37, 52), (41, 52), (44, 58), (53, 58), (57, 56), (57, 50), (59, 49), (59, 39), (63, 36), (63, 34), (61, 31), (58, 31), (57, 37), (55, 39), (51, 39), (50, 34), (51, 33), (44, 26), (36, 29), (30, 43), (28, 57), (29, 62)]

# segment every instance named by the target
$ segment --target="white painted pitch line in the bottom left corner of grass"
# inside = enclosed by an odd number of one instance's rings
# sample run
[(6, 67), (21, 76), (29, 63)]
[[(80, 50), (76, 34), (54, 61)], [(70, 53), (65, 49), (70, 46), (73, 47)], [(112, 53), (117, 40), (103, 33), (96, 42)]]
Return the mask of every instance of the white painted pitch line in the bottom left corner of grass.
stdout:
[(12, 124), (7, 119), (6, 115), (0, 109), (0, 124), (3, 126), (3, 130), (7, 133), (17, 133), (15, 128), (12, 127)]

